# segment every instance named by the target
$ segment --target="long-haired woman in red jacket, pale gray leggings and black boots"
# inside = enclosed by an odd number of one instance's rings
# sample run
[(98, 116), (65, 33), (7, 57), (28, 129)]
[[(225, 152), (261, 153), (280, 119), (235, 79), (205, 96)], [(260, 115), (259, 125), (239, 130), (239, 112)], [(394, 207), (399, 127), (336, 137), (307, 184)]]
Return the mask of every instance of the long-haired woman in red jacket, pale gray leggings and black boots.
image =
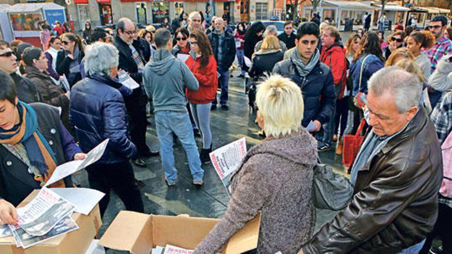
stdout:
[(197, 30), (190, 34), (191, 56), (185, 64), (195, 75), (199, 83), (197, 91), (186, 89), (193, 120), (201, 132), (202, 149), (199, 155), (201, 163), (210, 161), (212, 151), (212, 133), (210, 130), (210, 108), (218, 87), (217, 62), (213, 55), (209, 38)]

